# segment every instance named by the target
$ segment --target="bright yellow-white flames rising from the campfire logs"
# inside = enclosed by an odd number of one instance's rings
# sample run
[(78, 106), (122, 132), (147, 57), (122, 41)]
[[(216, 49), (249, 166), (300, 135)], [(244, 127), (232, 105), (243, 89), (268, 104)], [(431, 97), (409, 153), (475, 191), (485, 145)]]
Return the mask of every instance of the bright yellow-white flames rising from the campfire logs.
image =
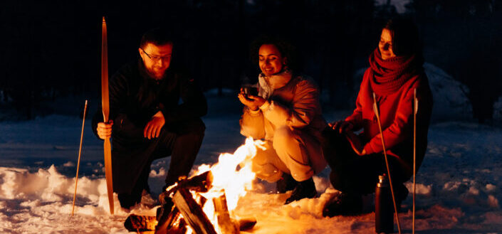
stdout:
[[(195, 175), (203, 174), (206, 171), (211, 171), (213, 174), (211, 189), (206, 193), (199, 193), (199, 195), (207, 199), (202, 210), (213, 223), (217, 233), (221, 233), (221, 230), (218, 228), (212, 199), (225, 193), (229, 213), (234, 211), (239, 198), (245, 196), (247, 191), (252, 189), (252, 182), (256, 174), (251, 171), (251, 159), (256, 156), (258, 148), (264, 149), (264, 144), (265, 142), (253, 141), (253, 138), (248, 137), (245, 144), (239, 147), (234, 154), (220, 154), (218, 163), (211, 166), (202, 164), (197, 169)], [(194, 194), (194, 198), (196, 196)]]

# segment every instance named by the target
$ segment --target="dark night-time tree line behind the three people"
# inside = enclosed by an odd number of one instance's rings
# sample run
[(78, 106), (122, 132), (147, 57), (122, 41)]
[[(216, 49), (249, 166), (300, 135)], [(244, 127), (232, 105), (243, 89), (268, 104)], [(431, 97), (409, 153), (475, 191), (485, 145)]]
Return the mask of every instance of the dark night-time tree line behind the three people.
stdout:
[[(389, 1), (387, 1), (389, 3)], [(501, 1), (417, 0), (407, 15), (419, 24), (426, 60), (471, 88), (475, 117), (491, 116), (501, 94)], [(263, 34), (298, 47), (303, 72), (328, 103), (348, 108), (353, 73), (367, 66), (394, 6), (373, 0), (8, 1), (0, 9), (0, 111), (30, 119), (44, 102), (99, 97), (100, 26), (108, 21), (110, 75), (137, 56), (142, 33), (164, 26), (178, 36), (174, 59), (204, 90), (236, 90), (256, 81), (251, 41)], [(490, 104), (491, 102), (491, 104)], [(489, 112), (489, 113), (488, 113)]]

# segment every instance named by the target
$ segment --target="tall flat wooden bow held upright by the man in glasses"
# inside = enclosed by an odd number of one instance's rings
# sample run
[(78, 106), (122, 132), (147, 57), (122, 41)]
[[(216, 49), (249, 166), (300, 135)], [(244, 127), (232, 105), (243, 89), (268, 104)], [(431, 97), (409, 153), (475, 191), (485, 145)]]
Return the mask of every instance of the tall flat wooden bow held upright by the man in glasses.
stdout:
[[(103, 16), (101, 32), (101, 105), (103, 107), (103, 122), (108, 122), (110, 97), (108, 96), (108, 41), (105, 16)], [(105, 151), (105, 177), (108, 203), (110, 204), (110, 213), (113, 215), (112, 146), (110, 144), (110, 137), (105, 138), (103, 148)]]

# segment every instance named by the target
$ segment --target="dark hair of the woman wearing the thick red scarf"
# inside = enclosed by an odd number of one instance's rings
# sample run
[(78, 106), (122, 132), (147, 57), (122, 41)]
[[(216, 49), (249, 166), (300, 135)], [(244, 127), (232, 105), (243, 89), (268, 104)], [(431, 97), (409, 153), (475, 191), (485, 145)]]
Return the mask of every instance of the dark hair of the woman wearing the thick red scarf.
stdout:
[(392, 51), (398, 56), (422, 55), (422, 41), (417, 25), (407, 18), (393, 18), (384, 28), (392, 35)]

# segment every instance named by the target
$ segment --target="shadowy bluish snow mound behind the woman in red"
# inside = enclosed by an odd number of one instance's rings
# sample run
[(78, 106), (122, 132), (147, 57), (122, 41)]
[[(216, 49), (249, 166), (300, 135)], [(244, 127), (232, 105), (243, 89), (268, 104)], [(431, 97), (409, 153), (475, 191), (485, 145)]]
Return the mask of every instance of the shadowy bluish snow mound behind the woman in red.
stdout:
[[(350, 102), (355, 103), (362, 76), (366, 70), (367, 68), (361, 68), (354, 73), (353, 89), (355, 94), (350, 98)], [(469, 88), (431, 63), (424, 63), (424, 70), (427, 78), (429, 78), (429, 85), (434, 99), (432, 122), (472, 119), (472, 105), (467, 97)], [(502, 97), (500, 100), (500, 107), (496, 110), (500, 110), (502, 119)]]

